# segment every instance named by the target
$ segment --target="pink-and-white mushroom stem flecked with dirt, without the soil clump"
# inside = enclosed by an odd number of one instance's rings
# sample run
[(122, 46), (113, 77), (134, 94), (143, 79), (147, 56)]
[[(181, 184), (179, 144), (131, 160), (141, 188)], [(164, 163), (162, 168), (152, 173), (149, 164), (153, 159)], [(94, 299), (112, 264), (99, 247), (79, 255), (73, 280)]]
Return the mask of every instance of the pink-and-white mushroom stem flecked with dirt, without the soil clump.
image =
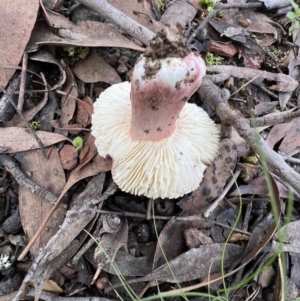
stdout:
[(194, 53), (185, 58), (142, 57), (131, 80), (131, 139), (157, 142), (170, 137), (205, 72), (203, 59)]

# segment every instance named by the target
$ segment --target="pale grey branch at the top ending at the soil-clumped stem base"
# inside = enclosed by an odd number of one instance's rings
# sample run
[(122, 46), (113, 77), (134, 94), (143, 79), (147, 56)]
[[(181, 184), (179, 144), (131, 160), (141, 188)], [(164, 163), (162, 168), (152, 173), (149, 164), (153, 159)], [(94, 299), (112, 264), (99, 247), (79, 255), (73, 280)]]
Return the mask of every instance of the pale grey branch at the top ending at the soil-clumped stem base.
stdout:
[(107, 0), (78, 0), (78, 2), (117, 24), (122, 30), (145, 45), (148, 45), (149, 41), (155, 36), (154, 32), (116, 9)]

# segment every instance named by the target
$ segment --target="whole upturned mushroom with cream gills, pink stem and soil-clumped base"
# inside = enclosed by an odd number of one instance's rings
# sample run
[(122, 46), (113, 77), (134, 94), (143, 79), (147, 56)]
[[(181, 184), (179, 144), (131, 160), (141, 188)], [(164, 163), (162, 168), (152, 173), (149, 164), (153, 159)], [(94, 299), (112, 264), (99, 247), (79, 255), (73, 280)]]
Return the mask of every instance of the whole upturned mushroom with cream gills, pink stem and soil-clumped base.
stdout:
[(179, 26), (157, 34), (136, 63), (131, 83), (115, 84), (94, 103), (98, 153), (113, 160), (121, 190), (177, 198), (195, 190), (219, 146), (207, 113), (187, 100), (205, 75)]

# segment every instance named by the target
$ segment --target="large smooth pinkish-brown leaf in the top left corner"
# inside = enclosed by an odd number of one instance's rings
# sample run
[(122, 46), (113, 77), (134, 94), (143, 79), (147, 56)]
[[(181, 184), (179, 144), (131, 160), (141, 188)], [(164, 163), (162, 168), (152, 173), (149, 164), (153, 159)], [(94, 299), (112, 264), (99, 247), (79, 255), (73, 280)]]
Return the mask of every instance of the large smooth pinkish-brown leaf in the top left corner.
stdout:
[(4, 67), (19, 64), (38, 9), (38, 0), (0, 1), (0, 84), (4, 87), (15, 73)]

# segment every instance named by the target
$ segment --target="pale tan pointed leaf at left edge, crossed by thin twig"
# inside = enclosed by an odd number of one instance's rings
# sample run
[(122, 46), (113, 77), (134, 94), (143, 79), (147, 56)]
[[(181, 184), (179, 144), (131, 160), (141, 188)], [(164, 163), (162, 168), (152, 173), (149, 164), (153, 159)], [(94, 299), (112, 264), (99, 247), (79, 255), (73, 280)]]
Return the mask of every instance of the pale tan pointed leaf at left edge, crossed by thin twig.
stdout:
[[(36, 134), (45, 147), (69, 140), (65, 136), (55, 133), (37, 131)], [(29, 131), (18, 127), (0, 128), (0, 147), (7, 149), (5, 152), (9, 154), (39, 148), (36, 140)]]

